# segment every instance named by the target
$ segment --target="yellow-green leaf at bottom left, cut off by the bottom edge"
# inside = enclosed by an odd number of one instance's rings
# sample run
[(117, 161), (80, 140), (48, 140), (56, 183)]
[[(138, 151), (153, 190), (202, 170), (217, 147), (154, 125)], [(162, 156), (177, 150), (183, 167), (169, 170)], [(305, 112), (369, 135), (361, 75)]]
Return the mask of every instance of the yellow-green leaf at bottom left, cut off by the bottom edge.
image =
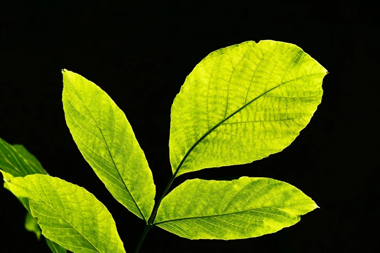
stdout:
[(8, 181), (17, 196), (28, 198), (42, 234), (78, 253), (125, 252), (107, 208), (82, 187), (48, 175), (34, 174)]

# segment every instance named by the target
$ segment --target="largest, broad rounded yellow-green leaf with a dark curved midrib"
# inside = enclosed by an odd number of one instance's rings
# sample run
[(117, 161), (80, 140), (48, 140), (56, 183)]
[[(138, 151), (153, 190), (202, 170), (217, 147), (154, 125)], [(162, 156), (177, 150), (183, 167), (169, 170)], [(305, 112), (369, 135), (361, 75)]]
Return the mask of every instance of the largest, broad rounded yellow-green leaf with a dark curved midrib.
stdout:
[(283, 42), (248, 41), (210, 53), (173, 102), (173, 174), (280, 152), (310, 122), (326, 73), (301, 48)]

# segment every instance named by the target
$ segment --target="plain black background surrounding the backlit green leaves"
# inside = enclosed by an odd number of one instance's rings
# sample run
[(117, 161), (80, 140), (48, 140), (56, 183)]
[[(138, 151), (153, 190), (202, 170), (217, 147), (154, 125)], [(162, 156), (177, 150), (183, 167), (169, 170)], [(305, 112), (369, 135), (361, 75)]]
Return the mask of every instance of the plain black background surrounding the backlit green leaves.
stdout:
[[(152, 228), (140, 252), (363, 252), (375, 238), (379, 61), (374, 6), (352, 2), (30, 2), (0, 7), (0, 137), (22, 143), (52, 176), (93, 193), (112, 213), (127, 252), (144, 229), (106, 190), (66, 126), (66, 68), (98, 84), (125, 112), (153, 172), (171, 177), (170, 107), (208, 53), (247, 40), (296, 44), (329, 72), (311, 123), (281, 153), (190, 178), (263, 176), (288, 182), (320, 209), (296, 225), (244, 240), (188, 240)], [(173, 188), (172, 187), (172, 188)], [(156, 196), (156, 201), (158, 197)], [(23, 227), (25, 210), (0, 189), (0, 252), (49, 252)], [(372, 230), (373, 229), (373, 230)]]

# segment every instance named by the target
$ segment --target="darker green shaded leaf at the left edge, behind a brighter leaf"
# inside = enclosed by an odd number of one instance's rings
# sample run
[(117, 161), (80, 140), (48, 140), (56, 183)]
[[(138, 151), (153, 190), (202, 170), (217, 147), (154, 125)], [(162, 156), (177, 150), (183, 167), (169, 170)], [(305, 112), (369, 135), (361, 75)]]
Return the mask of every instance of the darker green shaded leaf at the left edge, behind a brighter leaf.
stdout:
[(22, 145), (10, 145), (0, 138), (0, 169), (13, 176), (47, 174), (38, 160)]

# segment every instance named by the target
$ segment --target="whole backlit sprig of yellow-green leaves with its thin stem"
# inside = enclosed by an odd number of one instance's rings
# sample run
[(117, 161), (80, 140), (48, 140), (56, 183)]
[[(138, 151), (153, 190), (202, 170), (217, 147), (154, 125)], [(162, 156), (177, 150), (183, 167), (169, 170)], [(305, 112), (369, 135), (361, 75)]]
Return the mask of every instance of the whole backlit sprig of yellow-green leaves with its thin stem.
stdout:
[[(115, 199), (145, 221), (136, 253), (153, 226), (189, 239), (259, 237), (317, 207), (296, 187), (270, 178), (192, 179), (168, 193), (181, 174), (250, 163), (295, 140), (321, 102), (327, 74), (301, 48), (248, 41), (197, 64), (171, 108), (173, 176), (156, 205), (148, 161), (124, 112), (95, 83), (62, 73), (66, 123), (79, 150)], [(0, 139), (0, 168), (4, 187), (28, 210), (28, 229), (37, 237), (41, 229), (52, 252), (125, 252), (107, 208), (87, 190), (48, 175), (24, 147)]]

